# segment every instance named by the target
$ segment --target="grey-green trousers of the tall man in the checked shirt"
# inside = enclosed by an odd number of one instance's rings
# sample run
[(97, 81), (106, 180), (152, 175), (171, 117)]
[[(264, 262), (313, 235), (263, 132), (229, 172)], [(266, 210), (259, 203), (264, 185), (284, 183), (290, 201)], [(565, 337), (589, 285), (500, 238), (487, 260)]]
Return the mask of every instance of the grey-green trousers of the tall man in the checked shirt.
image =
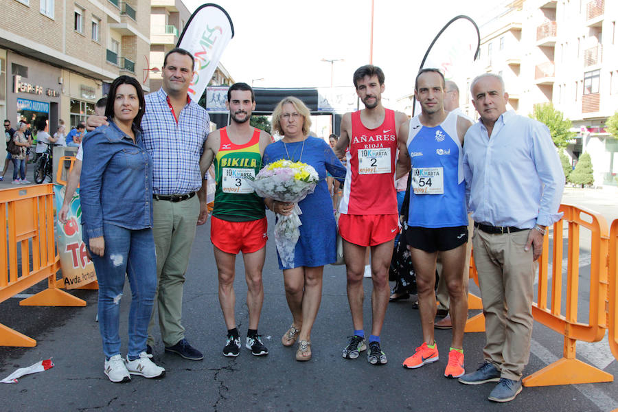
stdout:
[(151, 347), (155, 345), (152, 331), (156, 308), (159, 308), (159, 327), (165, 346), (174, 346), (185, 337), (185, 328), (181, 325), (183, 284), (199, 214), (197, 196), (181, 202), (153, 200), (157, 293), (148, 325), (147, 343)]

